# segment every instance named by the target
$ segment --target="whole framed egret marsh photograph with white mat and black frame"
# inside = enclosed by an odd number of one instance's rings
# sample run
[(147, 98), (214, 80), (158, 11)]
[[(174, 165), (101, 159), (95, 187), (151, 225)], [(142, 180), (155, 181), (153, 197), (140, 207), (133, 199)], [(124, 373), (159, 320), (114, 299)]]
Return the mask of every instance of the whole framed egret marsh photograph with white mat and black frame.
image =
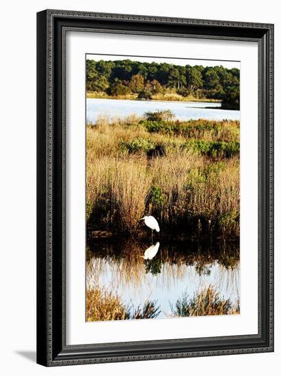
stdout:
[(37, 362), (273, 351), (273, 25), (37, 20)]

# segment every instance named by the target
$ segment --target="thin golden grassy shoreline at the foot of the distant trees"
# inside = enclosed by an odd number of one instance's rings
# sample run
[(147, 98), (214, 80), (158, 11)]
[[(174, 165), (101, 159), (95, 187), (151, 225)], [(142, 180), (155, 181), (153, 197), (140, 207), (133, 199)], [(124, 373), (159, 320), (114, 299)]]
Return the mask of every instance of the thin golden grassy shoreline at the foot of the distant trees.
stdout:
[(116, 99), (116, 100), (144, 100), (144, 101), (157, 101), (157, 102), (199, 102), (199, 103), (222, 103), (222, 100), (219, 99), (208, 99), (208, 98), (193, 98), (193, 97), (184, 97), (184, 96), (170, 96), (170, 98), (163, 98), (163, 96), (152, 96), (152, 99), (139, 99), (137, 94), (126, 94), (120, 96), (111, 96), (106, 93), (97, 93), (97, 92), (86, 92), (86, 98), (92, 99)]

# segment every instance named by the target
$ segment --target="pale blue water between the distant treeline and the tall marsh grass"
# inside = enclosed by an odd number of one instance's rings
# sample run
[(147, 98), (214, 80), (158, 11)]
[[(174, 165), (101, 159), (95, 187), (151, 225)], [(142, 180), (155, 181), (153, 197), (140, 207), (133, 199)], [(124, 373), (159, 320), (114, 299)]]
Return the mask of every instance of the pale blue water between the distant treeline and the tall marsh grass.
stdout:
[(122, 100), (87, 98), (87, 121), (94, 123), (98, 116), (121, 117), (135, 113), (144, 116), (148, 111), (170, 109), (178, 120), (240, 120), (240, 111), (221, 109), (220, 103), (174, 102), (172, 100)]

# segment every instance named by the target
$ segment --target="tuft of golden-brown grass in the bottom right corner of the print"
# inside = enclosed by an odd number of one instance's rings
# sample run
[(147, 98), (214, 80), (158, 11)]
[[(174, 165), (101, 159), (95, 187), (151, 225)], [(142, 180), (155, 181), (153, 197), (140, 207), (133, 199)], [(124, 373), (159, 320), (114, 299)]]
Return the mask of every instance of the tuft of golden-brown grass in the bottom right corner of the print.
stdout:
[(239, 301), (232, 304), (230, 299), (219, 297), (219, 293), (211, 285), (194, 294), (191, 298), (184, 295), (176, 301), (176, 306), (171, 308), (177, 317), (240, 313)]

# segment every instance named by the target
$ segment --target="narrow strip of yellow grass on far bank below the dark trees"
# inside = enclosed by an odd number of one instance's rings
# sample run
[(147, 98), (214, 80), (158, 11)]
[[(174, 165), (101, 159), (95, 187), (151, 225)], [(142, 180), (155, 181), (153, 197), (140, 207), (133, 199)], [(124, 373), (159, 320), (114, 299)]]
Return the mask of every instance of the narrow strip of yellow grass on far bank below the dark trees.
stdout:
[[(87, 98), (102, 98), (102, 99), (131, 99), (136, 100), (138, 94), (130, 93), (123, 95), (109, 95), (106, 92), (87, 92)], [(141, 100), (141, 99), (140, 99)], [(146, 100), (146, 99), (142, 99)], [(166, 94), (152, 94), (151, 100), (173, 100), (180, 102), (202, 102), (202, 103), (220, 103), (222, 100), (213, 98), (195, 98), (193, 96), (182, 96), (176, 93), (166, 93)]]

